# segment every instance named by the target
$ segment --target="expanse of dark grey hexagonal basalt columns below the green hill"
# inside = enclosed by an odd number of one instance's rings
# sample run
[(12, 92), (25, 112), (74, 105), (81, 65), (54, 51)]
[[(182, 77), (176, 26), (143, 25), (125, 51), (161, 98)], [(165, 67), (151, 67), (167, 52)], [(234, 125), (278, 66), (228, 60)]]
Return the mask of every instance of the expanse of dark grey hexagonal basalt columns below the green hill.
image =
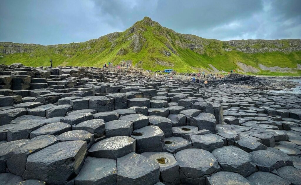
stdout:
[(301, 95), (276, 78), (20, 66), (0, 65), (0, 184), (301, 182)]

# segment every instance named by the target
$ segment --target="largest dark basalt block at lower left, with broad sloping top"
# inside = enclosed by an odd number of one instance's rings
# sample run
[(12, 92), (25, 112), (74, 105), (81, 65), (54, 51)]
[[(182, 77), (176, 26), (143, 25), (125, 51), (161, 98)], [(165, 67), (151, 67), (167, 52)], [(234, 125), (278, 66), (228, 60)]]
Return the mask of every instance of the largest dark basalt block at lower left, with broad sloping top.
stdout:
[(23, 176), (49, 184), (63, 184), (79, 173), (86, 149), (85, 141), (66, 141), (48, 146), (28, 156)]

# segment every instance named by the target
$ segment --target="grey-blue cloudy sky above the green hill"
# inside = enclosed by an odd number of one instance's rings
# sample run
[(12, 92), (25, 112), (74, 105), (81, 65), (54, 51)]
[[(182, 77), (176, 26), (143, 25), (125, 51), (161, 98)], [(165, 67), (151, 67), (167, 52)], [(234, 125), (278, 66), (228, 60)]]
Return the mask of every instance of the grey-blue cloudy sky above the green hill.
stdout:
[(143, 17), (203, 38), (301, 39), (301, 0), (1, 0), (0, 42), (84, 42)]

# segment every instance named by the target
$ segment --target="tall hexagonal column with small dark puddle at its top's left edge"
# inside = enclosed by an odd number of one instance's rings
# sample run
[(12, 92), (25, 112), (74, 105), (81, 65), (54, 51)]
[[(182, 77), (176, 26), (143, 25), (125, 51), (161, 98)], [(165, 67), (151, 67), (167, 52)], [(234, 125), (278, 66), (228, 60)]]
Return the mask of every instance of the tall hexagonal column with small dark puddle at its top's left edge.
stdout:
[(137, 153), (162, 152), (164, 147), (164, 133), (154, 125), (133, 131), (131, 136), (136, 139)]

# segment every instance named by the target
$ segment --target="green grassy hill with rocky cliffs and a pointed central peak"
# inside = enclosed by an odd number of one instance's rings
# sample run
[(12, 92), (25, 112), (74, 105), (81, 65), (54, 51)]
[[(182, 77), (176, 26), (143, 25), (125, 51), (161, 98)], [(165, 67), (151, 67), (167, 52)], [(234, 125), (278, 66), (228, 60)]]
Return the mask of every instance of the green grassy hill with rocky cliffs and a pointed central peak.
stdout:
[[(0, 63), (48, 66), (50, 58), (54, 66), (101, 67), (106, 62), (115, 65), (125, 59), (149, 70), (227, 72), (237, 69), (256, 74), (300, 74), (301, 40), (204, 39), (176, 33), (144, 17), (124, 32), (87, 42), (47, 46), (0, 42)], [(268, 68), (275, 66), (291, 69)]]

